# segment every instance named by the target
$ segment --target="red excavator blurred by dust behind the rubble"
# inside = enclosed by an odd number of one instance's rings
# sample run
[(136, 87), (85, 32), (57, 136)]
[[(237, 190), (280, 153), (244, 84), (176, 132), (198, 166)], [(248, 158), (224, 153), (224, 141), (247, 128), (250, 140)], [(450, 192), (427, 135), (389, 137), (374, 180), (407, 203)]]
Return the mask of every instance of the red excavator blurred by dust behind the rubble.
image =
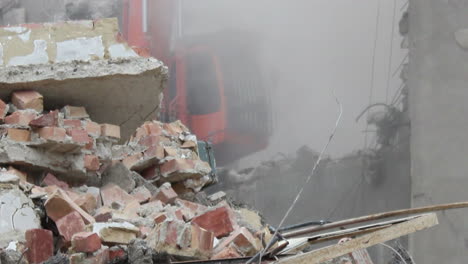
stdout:
[(226, 165), (268, 145), (271, 109), (258, 41), (238, 31), (186, 37), (181, 3), (124, 0), (122, 32), (140, 53), (169, 67), (162, 119), (181, 120)]

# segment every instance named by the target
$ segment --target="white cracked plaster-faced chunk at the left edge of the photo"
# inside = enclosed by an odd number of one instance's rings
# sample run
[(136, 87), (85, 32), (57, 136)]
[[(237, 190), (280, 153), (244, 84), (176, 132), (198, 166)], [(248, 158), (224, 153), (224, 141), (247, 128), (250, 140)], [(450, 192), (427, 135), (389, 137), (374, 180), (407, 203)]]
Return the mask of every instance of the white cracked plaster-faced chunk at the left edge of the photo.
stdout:
[(32, 201), (18, 187), (0, 189), (0, 235), (40, 228), (33, 208)]

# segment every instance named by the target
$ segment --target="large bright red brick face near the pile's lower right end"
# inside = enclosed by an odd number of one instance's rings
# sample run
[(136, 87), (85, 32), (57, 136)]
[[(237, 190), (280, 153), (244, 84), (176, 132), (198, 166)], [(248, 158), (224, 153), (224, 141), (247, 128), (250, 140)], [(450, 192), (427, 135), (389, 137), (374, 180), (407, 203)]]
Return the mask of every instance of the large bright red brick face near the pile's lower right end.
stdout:
[(229, 235), (234, 231), (234, 215), (227, 206), (208, 211), (192, 219), (192, 223), (211, 231), (217, 238)]

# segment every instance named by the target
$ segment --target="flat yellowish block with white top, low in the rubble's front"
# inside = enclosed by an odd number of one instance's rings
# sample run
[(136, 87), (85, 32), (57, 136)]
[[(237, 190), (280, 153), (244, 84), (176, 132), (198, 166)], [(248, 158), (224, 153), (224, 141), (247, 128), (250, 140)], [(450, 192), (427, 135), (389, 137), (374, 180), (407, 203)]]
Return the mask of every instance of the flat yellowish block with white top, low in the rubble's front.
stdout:
[(137, 237), (139, 231), (140, 229), (127, 222), (93, 224), (93, 233), (99, 234), (103, 243), (126, 245)]

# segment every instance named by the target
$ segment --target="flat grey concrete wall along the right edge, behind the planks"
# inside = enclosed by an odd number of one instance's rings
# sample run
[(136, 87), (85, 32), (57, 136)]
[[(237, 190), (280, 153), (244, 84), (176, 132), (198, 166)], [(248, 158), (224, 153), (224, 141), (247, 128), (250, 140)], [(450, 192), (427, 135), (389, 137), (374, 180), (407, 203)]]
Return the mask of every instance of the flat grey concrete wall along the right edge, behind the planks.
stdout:
[[(466, 200), (468, 1), (410, 0), (412, 206)], [(417, 234), (416, 263), (464, 263), (468, 212), (447, 212)]]

